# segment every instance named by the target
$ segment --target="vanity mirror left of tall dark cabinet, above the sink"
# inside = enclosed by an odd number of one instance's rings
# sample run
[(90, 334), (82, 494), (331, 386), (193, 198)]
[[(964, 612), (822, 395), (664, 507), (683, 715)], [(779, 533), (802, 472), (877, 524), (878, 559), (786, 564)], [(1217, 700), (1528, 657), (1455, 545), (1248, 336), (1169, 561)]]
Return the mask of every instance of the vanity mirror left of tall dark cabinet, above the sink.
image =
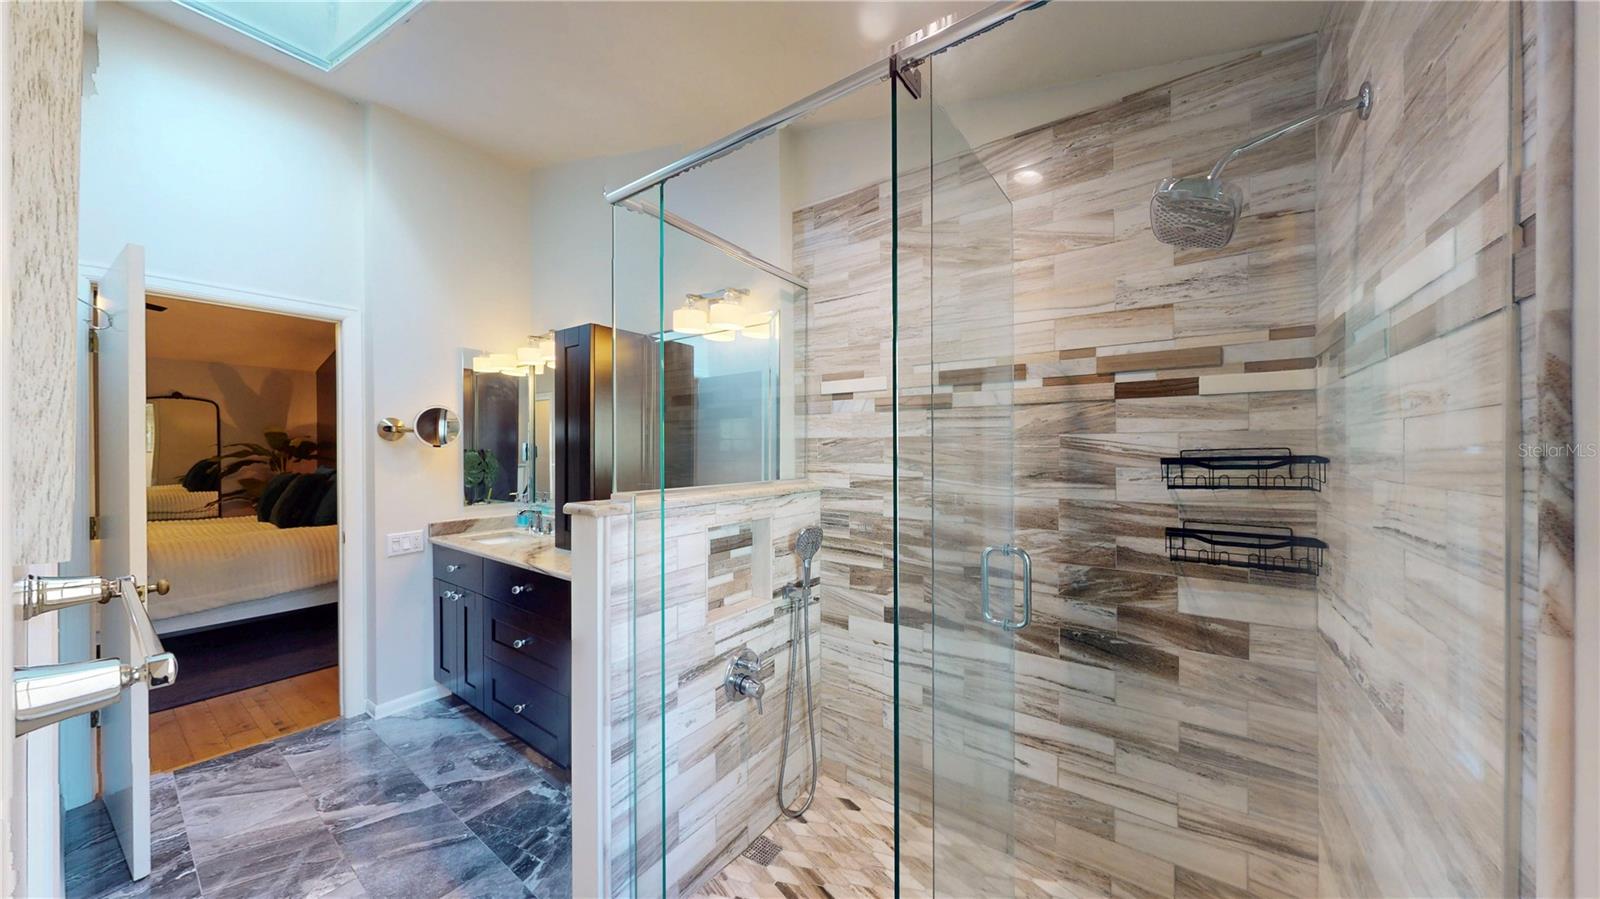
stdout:
[(515, 354), (461, 354), (462, 501), (549, 509), (555, 370)]

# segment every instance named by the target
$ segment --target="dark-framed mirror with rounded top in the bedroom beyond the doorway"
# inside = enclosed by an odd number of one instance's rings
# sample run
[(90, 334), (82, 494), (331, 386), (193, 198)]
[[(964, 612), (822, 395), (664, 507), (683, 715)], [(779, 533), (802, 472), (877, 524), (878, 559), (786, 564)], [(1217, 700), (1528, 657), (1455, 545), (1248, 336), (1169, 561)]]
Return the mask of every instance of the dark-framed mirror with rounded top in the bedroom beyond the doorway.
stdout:
[(222, 414), (214, 400), (165, 394), (144, 402), (146, 517), (150, 521), (216, 518)]

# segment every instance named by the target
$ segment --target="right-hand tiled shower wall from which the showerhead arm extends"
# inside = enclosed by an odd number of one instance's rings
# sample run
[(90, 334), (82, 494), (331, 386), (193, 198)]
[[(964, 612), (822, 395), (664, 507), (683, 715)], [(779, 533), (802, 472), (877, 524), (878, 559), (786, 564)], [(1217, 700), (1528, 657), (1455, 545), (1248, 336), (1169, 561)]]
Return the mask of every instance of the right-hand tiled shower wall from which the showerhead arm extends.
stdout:
[(1325, 896), (1507, 886), (1510, 13), (1350, 3), (1320, 35), (1322, 99), (1379, 98), (1317, 152)]

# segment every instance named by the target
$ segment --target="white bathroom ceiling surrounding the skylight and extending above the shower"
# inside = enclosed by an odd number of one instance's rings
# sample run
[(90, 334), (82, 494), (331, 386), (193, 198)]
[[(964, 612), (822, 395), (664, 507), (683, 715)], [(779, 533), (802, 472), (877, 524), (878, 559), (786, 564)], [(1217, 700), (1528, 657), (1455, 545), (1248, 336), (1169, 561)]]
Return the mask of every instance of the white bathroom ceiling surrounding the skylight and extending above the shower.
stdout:
[[(432, 0), (318, 72), (168, 0), (139, 6), (352, 99), (528, 166), (706, 144), (880, 59), (917, 27), (984, 3)], [(1315, 30), (1322, 2), (1083, 2), (962, 53), (982, 96), (1243, 50)], [(1002, 51), (1000, 38), (1008, 43)], [(970, 59), (970, 62), (966, 62)], [(950, 85), (941, 78), (941, 88)], [(827, 118), (882, 115), (858, 99)]]

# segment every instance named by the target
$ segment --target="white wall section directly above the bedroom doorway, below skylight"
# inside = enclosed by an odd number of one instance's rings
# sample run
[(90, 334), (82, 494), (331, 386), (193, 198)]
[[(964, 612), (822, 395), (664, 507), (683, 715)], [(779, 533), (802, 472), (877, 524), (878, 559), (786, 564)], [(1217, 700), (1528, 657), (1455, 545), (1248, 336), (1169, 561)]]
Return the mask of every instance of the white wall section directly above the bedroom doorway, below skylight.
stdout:
[(362, 109), (123, 3), (96, 19), (78, 258), (142, 243), (150, 277), (362, 306)]

